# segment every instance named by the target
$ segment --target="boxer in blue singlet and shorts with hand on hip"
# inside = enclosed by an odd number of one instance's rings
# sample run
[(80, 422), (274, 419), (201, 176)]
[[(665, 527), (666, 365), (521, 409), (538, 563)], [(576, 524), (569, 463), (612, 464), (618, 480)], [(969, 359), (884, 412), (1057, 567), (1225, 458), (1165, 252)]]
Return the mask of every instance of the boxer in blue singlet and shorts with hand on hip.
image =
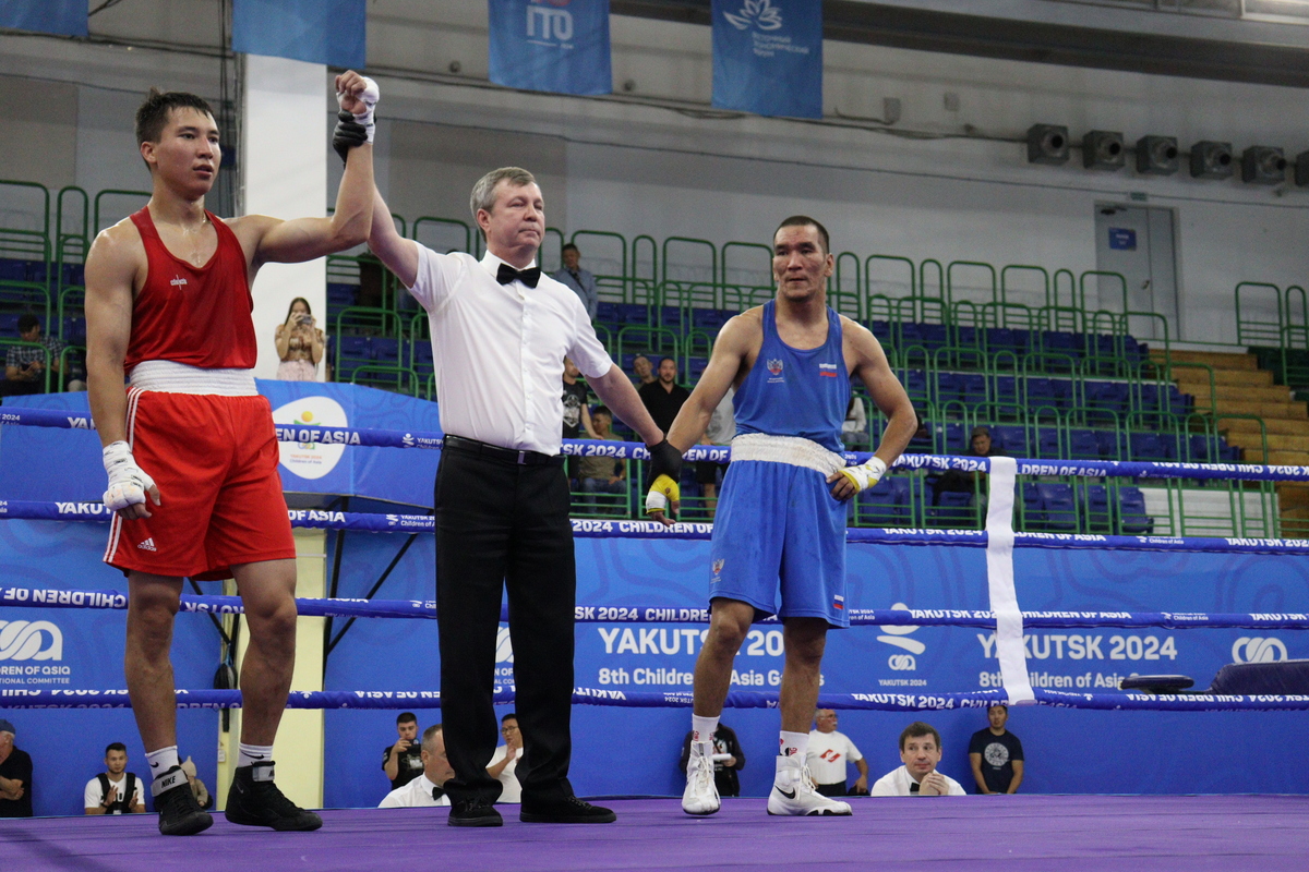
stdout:
[[(805, 765), (827, 628), (846, 628), (846, 501), (870, 488), (918, 428), (914, 407), (873, 335), (827, 307), (827, 230), (787, 218), (772, 238), (778, 295), (726, 324), (668, 441), (686, 451), (736, 387), (737, 437), (713, 524), (709, 633), (695, 664), (691, 757), (682, 809), (719, 811), (712, 736), (750, 625), (783, 621), (781, 740), (770, 814), (850, 814), (814, 790)], [(840, 424), (857, 375), (889, 422), (873, 458), (847, 467)], [(677, 476), (652, 482), (647, 510), (672, 523)], [(778, 595), (780, 592), (780, 607)]]

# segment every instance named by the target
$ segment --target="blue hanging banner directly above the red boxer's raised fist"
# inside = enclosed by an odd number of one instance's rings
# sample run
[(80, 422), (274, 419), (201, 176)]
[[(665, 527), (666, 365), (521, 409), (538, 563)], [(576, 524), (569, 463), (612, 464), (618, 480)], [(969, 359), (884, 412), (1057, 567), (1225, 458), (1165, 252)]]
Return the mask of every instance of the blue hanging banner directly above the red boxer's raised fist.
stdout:
[(361, 69), (367, 0), (233, 0), (232, 51)]

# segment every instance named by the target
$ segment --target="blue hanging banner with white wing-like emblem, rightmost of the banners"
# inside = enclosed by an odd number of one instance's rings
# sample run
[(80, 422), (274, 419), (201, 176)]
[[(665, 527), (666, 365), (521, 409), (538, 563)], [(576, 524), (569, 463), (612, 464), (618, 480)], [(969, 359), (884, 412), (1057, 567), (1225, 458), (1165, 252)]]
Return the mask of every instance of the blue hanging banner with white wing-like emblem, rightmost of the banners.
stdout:
[(713, 0), (713, 106), (822, 118), (822, 0)]

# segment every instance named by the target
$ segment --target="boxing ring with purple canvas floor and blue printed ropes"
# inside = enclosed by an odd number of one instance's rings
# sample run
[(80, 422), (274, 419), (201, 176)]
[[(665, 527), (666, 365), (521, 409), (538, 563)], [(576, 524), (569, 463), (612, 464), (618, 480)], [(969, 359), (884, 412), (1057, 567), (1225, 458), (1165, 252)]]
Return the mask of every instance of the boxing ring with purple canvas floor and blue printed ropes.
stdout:
[[(47, 409), (5, 407), (0, 422), (12, 426), (79, 429), (69, 416)], [(369, 428), (279, 428), (279, 438), (296, 443), (329, 443), (389, 448), (439, 448), (439, 433), (399, 431)], [(575, 455), (603, 452), (615, 459), (644, 459), (644, 446), (615, 442), (575, 441), (565, 446)], [(863, 461), (869, 455), (848, 455)], [(729, 452), (721, 447), (698, 447), (687, 454), (692, 460), (725, 461)], [(1029, 706), (1096, 713), (1155, 711), (1175, 713), (1173, 723), (1185, 723), (1190, 713), (1295, 713), (1309, 709), (1309, 696), (1288, 694), (1177, 694), (1151, 696), (1124, 693), (1113, 688), (1041, 686), (1031, 669), (1034, 648), (1031, 630), (1111, 630), (1166, 629), (1249, 630), (1238, 641), (1259, 641), (1268, 633), (1309, 629), (1309, 613), (1301, 611), (1178, 611), (1162, 612), (1158, 604), (1131, 611), (1067, 611), (1025, 608), (1021, 579), (1014, 580), (1014, 556), (1033, 549), (1075, 553), (1114, 552), (1166, 556), (1175, 554), (1259, 554), (1280, 560), (1309, 554), (1306, 540), (1272, 539), (1208, 539), (1107, 536), (1079, 533), (1024, 533), (1012, 527), (1013, 499), (1020, 476), (1084, 476), (1089, 478), (1219, 478), (1246, 481), (1309, 481), (1309, 469), (1264, 465), (1204, 465), (1181, 463), (1124, 461), (1050, 461), (1026, 459), (979, 459), (953, 456), (906, 455), (895, 469), (959, 469), (988, 475), (991, 498), (986, 529), (869, 529), (850, 531), (853, 546), (880, 545), (893, 548), (966, 549), (984, 556), (984, 578), (970, 579), (984, 588), (986, 608), (891, 608), (876, 609), (851, 597), (847, 609), (851, 633), (905, 634), (914, 628), (954, 628), (956, 631), (994, 633), (991, 645), (997, 663), (994, 686), (975, 690), (936, 689), (886, 690), (869, 688), (852, 692), (827, 692), (819, 706), (843, 713), (961, 713), (984, 709), (995, 702), (1008, 702), (1016, 711)], [(4, 494), (0, 494), (3, 499)], [(424, 536), (433, 531), (428, 515), (373, 514), (350, 511), (293, 510), (296, 527)], [(0, 502), (0, 518), (14, 520), (106, 522), (103, 509), (92, 503), (54, 503), (39, 501)], [(577, 519), (575, 536), (580, 541), (598, 543), (703, 543), (711, 535), (709, 524), (677, 524), (664, 527), (652, 522), (619, 519)], [(657, 545), (652, 545), (657, 548)], [(700, 570), (703, 571), (703, 570)], [(48, 587), (10, 583), (0, 579), (0, 607), (5, 609), (80, 609), (118, 612), (126, 609), (126, 595), (118, 590)], [(652, 597), (656, 600), (656, 597)], [(435, 604), (425, 599), (357, 600), (300, 599), (301, 616), (340, 617), (351, 620), (431, 621)], [(182, 611), (194, 614), (240, 612), (240, 599), (213, 595), (183, 595)], [(583, 603), (577, 607), (580, 626), (596, 624), (601, 635), (617, 641), (623, 628), (637, 628), (634, 638), (644, 646), (654, 638), (654, 629), (669, 628), (672, 637), (661, 643), (685, 637), (687, 650), (698, 635), (696, 628), (707, 622), (707, 609), (672, 607), (660, 601), (627, 600)], [(182, 617), (179, 621), (195, 620)], [(762, 633), (775, 621), (759, 624)], [(607, 629), (606, 629), (607, 628)], [(678, 629), (682, 628), (682, 629)], [(691, 629), (686, 629), (691, 628)], [(889, 629), (893, 628), (893, 629)], [(606, 637), (605, 633), (613, 633)], [(1258, 634), (1258, 635), (1254, 635)], [(905, 635), (901, 635), (903, 639)], [(979, 641), (984, 634), (978, 634)], [(780, 635), (779, 635), (780, 638)], [(880, 637), (885, 638), (885, 637)], [(1054, 637), (1068, 638), (1068, 637)], [(1079, 638), (1081, 638), (1079, 635)], [(1089, 637), (1088, 637), (1089, 638)], [(1123, 637), (1114, 637), (1123, 638)], [(1136, 637), (1127, 637), (1136, 638)], [(1153, 638), (1153, 637), (1147, 637)], [(761, 635), (761, 639), (771, 637)], [(3, 639), (0, 639), (3, 641)], [(983, 641), (983, 646), (987, 643)], [(620, 645), (620, 643), (619, 643)], [(1249, 647), (1247, 642), (1247, 647)], [(902, 643), (903, 650), (912, 646)], [(3, 647), (3, 646), (0, 646)], [(1283, 646), (1284, 647), (1284, 646)], [(1251, 648), (1253, 650), (1253, 648)], [(1261, 648), (1261, 651), (1264, 648)], [(665, 647), (666, 651), (666, 647)], [(1046, 651), (1050, 651), (1049, 641)], [(903, 655), (897, 655), (903, 656)], [(1166, 662), (1165, 662), (1166, 664)], [(1181, 667), (1182, 664), (1178, 664)], [(1160, 672), (1187, 671), (1161, 668)], [(617, 672), (617, 669), (615, 669)], [(626, 672), (626, 669), (624, 669)], [(1088, 685), (1089, 676), (1088, 672)], [(1200, 676), (1200, 681), (1206, 677)], [(497, 686), (496, 702), (512, 703), (512, 686)], [(683, 710), (690, 706), (690, 686), (643, 690), (631, 684), (580, 682), (575, 705), (606, 710)], [(733, 690), (728, 713), (776, 707), (776, 693), (764, 689)], [(0, 710), (115, 710), (128, 706), (126, 692), (109, 689), (33, 689), (0, 685)], [(178, 692), (179, 709), (226, 709), (240, 706), (238, 690), (183, 688)], [(435, 690), (352, 690), (293, 692), (292, 709), (327, 710), (433, 710), (440, 707)], [(1088, 711), (1089, 710), (1089, 711)], [(437, 713), (432, 713), (437, 716)], [(775, 715), (770, 715), (775, 718)], [(929, 715), (922, 715), (924, 718)], [(1110, 715), (1113, 716), (1113, 715)], [(1131, 715), (1118, 715), (1131, 716)], [(1284, 715), (1292, 716), (1292, 715)], [(903, 720), (907, 722), (908, 718)], [(978, 716), (980, 722), (980, 716)], [(775, 724), (772, 727), (775, 729)], [(579, 743), (576, 758), (588, 752)], [(867, 749), (865, 749), (867, 753)], [(1168, 753), (1166, 748), (1161, 753)], [(1287, 765), (1299, 767), (1299, 754), (1288, 753)], [(874, 777), (880, 774), (876, 771)], [(961, 779), (962, 780), (962, 779)], [(1301, 782), (1309, 784), (1309, 780)], [(1305, 788), (1302, 788), (1305, 790)], [(584, 791), (580, 791), (584, 792)], [(906, 803), (911, 803), (906, 805)], [(444, 809), (404, 809), (399, 812), (329, 811), (326, 825), (314, 834), (276, 834), (249, 831), (229, 826), (221, 817), (213, 830), (185, 847), (174, 847), (156, 834), (152, 817), (114, 821), (110, 830), (98, 828), (102, 820), (47, 818), (22, 822), (0, 822), (0, 837), (12, 845), (30, 868), (69, 867), (99, 858), (105, 868), (119, 868), (111, 856), (148, 854), (162, 868), (183, 863), (194, 865), (213, 854), (213, 862), (238, 850), (258, 865), (251, 868), (412, 868), (416, 863), (444, 858), (456, 868), (497, 868), (521, 865), (533, 868), (686, 868), (690, 865), (728, 865), (758, 868), (761, 865), (850, 865), (867, 868), (876, 862), (895, 865), (933, 860), (965, 860), (980, 867), (1004, 868), (1107, 868), (1136, 863), (1151, 868), (1296, 868), (1302, 865), (1299, 843), (1309, 834), (1309, 797), (1292, 796), (1089, 796), (1089, 795), (1020, 795), (999, 797), (966, 797), (941, 800), (923, 807), (918, 799), (856, 800), (855, 816), (848, 820), (779, 820), (762, 813), (759, 799), (728, 799), (724, 809), (712, 818), (689, 818), (675, 799), (620, 799), (613, 803), (619, 824), (609, 828), (586, 828), (585, 833), (567, 826), (517, 826), (511, 822), (492, 838), (482, 833), (461, 831), (444, 826)], [(818, 826), (822, 833), (814, 833)], [(692, 829), (699, 828), (699, 829)], [(706, 829), (708, 828), (708, 830)], [(802, 831), (795, 828), (801, 828)], [(712, 830), (712, 831), (709, 831)], [(144, 839), (144, 841), (141, 841)], [(289, 839), (289, 841), (288, 841)], [(365, 851), (361, 843), (385, 846)], [(220, 855), (221, 852), (221, 855)], [(17, 868), (26, 868), (20, 864)], [(85, 868), (85, 867), (82, 867)]]

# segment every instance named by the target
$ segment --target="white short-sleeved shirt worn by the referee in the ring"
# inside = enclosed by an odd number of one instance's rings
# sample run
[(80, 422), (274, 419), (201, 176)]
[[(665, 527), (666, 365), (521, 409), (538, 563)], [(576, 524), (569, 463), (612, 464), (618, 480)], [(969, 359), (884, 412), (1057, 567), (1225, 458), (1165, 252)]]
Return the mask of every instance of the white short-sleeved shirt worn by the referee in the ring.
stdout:
[(545, 273), (535, 288), (501, 285), (501, 263), (491, 252), (478, 261), (418, 246), (408, 290), (432, 327), (441, 430), (555, 455), (563, 438), (564, 357), (588, 378), (605, 375), (614, 362), (572, 289)]

